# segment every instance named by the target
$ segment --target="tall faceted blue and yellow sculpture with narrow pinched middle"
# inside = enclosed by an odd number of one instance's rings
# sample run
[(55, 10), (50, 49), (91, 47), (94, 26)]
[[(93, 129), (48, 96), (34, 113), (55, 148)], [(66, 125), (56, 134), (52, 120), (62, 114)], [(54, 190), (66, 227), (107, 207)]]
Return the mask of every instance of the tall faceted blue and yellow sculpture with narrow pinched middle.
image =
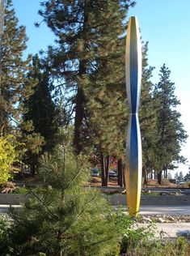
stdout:
[(138, 122), (141, 95), (141, 38), (136, 17), (129, 18), (125, 75), (129, 103), (125, 180), (129, 215), (136, 216), (141, 199), (141, 133)]

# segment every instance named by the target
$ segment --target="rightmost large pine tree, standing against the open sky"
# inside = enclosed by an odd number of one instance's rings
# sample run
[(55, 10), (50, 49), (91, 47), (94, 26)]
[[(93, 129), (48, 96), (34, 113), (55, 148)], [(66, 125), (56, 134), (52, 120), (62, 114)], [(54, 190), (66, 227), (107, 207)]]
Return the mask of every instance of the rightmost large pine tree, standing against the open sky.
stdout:
[(175, 96), (175, 86), (170, 80), (170, 74), (171, 71), (163, 64), (160, 70), (160, 81), (154, 88), (154, 103), (158, 109), (155, 169), (159, 173), (159, 183), (161, 183), (163, 170), (174, 169), (175, 163), (184, 162), (184, 157), (180, 156), (180, 149), (188, 137), (179, 120), (181, 115), (176, 110), (176, 106), (180, 103)]

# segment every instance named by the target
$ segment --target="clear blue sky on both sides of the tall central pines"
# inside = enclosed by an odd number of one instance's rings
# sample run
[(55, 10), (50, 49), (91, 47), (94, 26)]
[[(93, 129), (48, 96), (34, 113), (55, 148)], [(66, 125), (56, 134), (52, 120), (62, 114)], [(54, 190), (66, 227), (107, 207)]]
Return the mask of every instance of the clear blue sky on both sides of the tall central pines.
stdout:
[[(37, 53), (53, 44), (53, 33), (40, 22), (37, 11), (40, 0), (13, 0), (19, 23), (27, 27), (29, 39), (26, 53)], [(190, 136), (190, 0), (137, 0), (129, 16), (137, 16), (143, 41), (149, 41), (148, 59), (155, 66), (152, 81), (158, 83), (158, 72), (163, 63), (171, 70), (171, 81), (175, 83), (175, 95), (181, 101), (178, 111), (181, 122)], [(182, 149), (190, 164), (190, 138)], [(179, 166), (178, 171), (188, 172), (188, 166)], [(173, 173), (173, 172), (172, 172)]]

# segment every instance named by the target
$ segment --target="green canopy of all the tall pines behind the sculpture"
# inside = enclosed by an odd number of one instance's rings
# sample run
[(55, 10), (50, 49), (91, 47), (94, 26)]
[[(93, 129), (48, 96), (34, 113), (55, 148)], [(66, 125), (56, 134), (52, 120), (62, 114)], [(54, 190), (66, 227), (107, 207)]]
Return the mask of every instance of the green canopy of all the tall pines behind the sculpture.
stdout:
[[(74, 153), (97, 160), (105, 186), (110, 160), (118, 161), (122, 169), (128, 122), (125, 31), (134, 4), (130, 0), (42, 1), (39, 14), (56, 43), (47, 54), (24, 60), (25, 28), (19, 26), (11, 0), (6, 2), (0, 130), (4, 136), (14, 134), (26, 148), (25, 163), (36, 167), (39, 156), (56, 146), (59, 128), (68, 126), (73, 130)], [(170, 70), (163, 65), (154, 84), (153, 69), (148, 43), (143, 43), (139, 109), (143, 173), (162, 174), (185, 161), (180, 148), (187, 134), (176, 109), (179, 100)]]

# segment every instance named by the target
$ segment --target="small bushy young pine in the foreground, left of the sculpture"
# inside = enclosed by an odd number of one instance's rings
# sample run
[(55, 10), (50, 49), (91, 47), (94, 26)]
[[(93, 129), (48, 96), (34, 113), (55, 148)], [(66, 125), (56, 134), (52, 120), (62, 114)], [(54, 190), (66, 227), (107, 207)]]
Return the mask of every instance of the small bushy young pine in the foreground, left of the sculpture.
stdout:
[[(66, 139), (65, 139), (66, 140)], [(15, 254), (107, 255), (116, 250), (112, 209), (98, 191), (85, 187), (89, 169), (69, 144), (45, 154), (45, 185), (31, 191), (21, 211), (13, 211)]]

